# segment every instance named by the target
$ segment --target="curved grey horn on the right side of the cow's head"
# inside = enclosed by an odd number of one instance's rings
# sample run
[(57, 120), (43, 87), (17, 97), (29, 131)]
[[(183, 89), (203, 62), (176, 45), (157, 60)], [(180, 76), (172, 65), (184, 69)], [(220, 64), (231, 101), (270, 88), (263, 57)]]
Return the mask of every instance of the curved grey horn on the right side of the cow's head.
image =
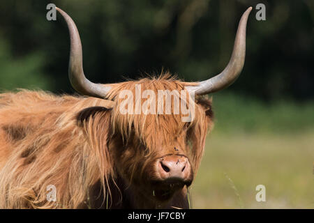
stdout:
[(248, 8), (241, 17), (234, 40), (233, 52), (225, 70), (215, 77), (199, 82), (197, 86), (186, 86), (188, 91), (194, 91), (196, 95), (213, 93), (230, 86), (239, 77), (246, 56), (246, 22), (251, 10), (252, 7)]

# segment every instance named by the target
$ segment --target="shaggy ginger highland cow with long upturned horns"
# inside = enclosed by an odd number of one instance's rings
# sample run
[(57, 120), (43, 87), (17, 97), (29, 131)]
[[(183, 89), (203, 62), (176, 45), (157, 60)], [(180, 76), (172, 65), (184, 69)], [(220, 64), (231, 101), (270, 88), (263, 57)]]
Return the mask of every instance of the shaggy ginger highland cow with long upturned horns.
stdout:
[[(94, 84), (84, 75), (80, 36), (71, 18), (69, 79), (84, 96), (21, 90), (0, 94), (0, 208), (189, 208), (188, 187), (213, 126), (211, 100), (203, 95), (229, 86), (244, 66), (248, 8), (239, 22), (230, 62), (202, 82), (181, 82), (168, 72), (117, 84)], [(185, 103), (181, 112), (121, 113), (135, 108), (136, 94), (168, 95)], [(140, 98), (146, 108), (166, 98)], [(148, 104), (147, 104), (148, 103)], [(130, 107), (131, 106), (131, 107)], [(134, 107), (133, 107), (134, 106)], [(183, 116), (193, 116), (182, 121)], [(55, 188), (54, 200), (47, 188)]]

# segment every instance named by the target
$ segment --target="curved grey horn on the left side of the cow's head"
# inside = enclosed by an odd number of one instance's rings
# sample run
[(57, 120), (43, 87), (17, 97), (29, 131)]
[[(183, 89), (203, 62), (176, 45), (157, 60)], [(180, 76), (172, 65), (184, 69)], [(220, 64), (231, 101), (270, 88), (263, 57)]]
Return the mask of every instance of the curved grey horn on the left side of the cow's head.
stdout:
[(70, 59), (68, 64), (68, 77), (75, 91), (82, 95), (89, 95), (96, 98), (105, 98), (111, 87), (103, 84), (95, 84), (90, 82), (84, 75), (83, 56), (80, 34), (77, 31), (75, 22), (68, 14), (60, 8), (56, 9), (66, 20), (68, 31), (70, 33)]

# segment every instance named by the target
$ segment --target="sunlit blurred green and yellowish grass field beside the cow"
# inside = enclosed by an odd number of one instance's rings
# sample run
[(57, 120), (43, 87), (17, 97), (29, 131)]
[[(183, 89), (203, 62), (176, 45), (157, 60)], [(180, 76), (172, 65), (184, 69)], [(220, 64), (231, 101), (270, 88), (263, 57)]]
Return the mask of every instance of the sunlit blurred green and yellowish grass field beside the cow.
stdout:
[[(214, 105), (216, 126), (190, 189), (192, 208), (314, 208), (313, 104), (264, 107), (221, 95)], [(260, 184), (266, 202), (255, 200)]]

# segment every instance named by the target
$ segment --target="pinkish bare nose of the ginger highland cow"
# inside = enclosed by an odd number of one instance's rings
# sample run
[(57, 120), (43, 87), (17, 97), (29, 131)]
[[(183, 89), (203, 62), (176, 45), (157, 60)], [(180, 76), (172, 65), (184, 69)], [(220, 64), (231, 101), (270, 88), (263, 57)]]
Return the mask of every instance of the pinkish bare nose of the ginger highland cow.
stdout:
[(190, 162), (182, 155), (167, 155), (160, 159), (158, 171), (164, 180), (186, 181), (191, 174)]

